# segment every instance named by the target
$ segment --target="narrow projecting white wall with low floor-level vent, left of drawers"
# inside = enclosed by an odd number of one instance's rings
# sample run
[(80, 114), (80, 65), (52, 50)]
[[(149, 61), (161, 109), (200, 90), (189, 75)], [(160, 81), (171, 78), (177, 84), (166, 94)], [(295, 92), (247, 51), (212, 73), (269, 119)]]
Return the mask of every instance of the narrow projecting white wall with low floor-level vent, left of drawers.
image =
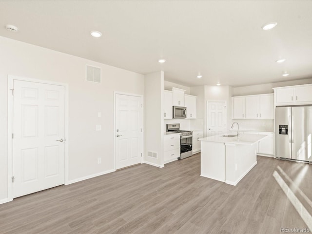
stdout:
[[(145, 75), (144, 94), (144, 161), (154, 166), (164, 165), (164, 134), (163, 134), (163, 88), (164, 72), (155, 72)], [(157, 153), (157, 158), (149, 157), (148, 151)]]

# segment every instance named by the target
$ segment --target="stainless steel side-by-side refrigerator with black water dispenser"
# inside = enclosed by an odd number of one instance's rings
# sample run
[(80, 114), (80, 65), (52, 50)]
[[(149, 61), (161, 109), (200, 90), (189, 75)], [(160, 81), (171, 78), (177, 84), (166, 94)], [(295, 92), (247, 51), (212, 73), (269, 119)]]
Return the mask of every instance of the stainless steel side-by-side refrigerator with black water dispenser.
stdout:
[(276, 107), (276, 158), (312, 163), (312, 106)]

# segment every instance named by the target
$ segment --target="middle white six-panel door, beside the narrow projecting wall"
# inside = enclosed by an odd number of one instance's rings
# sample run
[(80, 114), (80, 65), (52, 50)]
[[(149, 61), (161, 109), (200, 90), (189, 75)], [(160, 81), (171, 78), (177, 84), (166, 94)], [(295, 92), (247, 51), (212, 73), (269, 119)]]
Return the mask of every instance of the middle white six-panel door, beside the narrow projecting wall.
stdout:
[(142, 98), (116, 94), (116, 169), (142, 162)]

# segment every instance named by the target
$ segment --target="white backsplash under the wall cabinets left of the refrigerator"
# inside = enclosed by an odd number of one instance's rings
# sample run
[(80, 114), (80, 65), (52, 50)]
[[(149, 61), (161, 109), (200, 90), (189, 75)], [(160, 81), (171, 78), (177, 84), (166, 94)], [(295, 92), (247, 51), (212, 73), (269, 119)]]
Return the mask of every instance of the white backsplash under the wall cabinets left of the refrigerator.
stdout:
[[(274, 132), (273, 119), (232, 119), (232, 123), (233, 122), (237, 122), (241, 130)], [(231, 129), (232, 123), (229, 124), (229, 130)], [(237, 129), (236, 124), (234, 125), (234, 129)]]

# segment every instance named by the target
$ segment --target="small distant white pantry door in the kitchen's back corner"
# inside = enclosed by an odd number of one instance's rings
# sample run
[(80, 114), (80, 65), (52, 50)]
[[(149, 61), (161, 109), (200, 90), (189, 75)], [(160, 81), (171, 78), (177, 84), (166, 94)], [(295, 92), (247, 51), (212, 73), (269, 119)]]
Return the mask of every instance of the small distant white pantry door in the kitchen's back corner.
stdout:
[(208, 137), (225, 133), (225, 102), (208, 102)]

